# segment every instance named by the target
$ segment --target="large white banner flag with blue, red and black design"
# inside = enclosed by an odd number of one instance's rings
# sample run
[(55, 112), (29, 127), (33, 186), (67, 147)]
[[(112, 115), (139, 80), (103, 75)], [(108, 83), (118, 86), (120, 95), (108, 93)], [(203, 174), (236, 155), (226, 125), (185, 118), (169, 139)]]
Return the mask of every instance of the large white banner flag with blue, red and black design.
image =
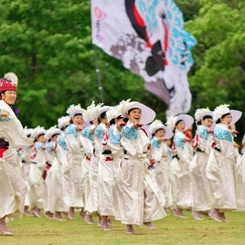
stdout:
[(143, 77), (167, 105), (167, 115), (188, 112), (187, 73), (195, 38), (185, 31), (173, 0), (92, 0), (93, 43)]

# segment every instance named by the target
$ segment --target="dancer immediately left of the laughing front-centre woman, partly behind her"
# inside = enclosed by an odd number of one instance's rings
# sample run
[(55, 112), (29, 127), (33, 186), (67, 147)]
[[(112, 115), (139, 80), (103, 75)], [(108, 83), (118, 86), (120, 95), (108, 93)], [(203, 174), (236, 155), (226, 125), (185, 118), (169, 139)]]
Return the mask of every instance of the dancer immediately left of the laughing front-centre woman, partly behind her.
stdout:
[(115, 177), (117, 166), (122, 159), (123, 150), (120, 145), (121, 124), (123, 117), (119, 107), (110, 107), (106, 112), (110, 128), (104, 136), (103, 152), (98, 167), (98, 213), (100, 214), (101, 229), (111, 230), (108, 216), (115, 217), (117, 205), (115, 194)]

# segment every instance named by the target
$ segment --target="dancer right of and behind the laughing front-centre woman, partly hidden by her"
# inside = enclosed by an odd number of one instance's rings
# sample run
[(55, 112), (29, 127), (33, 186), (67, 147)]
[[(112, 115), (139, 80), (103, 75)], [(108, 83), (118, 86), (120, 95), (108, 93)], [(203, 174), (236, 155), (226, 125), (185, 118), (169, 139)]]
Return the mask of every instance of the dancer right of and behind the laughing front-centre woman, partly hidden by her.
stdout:
[(173, 132), (160, 120), (155, 120), (149, 128), (153, 135), (151, 139), (152, 156), (155, 159), (156, 181), (159, 190), (163, 193), (163, 207), (165, 210), (172, 207), (173, 197), (169, 173), (169, 146), (168, 141), (172, 138)]

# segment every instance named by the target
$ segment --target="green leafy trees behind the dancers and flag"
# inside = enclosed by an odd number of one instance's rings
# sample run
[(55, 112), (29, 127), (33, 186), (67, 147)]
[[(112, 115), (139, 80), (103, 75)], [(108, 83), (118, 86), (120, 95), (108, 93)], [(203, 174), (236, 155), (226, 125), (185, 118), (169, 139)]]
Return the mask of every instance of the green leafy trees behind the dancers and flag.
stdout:
[[(189, 73), (195, 109), (227, 103), (245, 106), (245, 2), (176, 0), (186, 29), (196, 37)], [(23, 125), (50, 127), (70, 104), (101, 102), (91, 41), (88, 0), (0, 0), (0, 74), (19, 77), (16, 107)], [(144, 88), (142, 78), (96, 48), (104, 103), (132, 98), (156, 110), (166, 105)], [(245, 131), (244, 117), (237, 125)]]

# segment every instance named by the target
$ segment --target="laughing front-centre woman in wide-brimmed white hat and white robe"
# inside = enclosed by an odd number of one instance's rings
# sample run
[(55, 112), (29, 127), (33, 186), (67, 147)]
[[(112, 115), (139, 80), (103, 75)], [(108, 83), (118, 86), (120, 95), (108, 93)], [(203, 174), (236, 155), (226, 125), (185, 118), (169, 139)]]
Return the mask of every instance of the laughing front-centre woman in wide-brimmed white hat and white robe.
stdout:
[(167, 214), (152, 169), (150, 139), (141, 127), (152, 122), (156, 114), (138, 102), (125, 103), (122, 113), (129, 120), (122, 129), (121, 145), (126, 154), (118, 166), (116, 191), (120, 221), (126, 224), (128, 234), (134, 234), (133, 225), (156, 229), (152, 221)]

